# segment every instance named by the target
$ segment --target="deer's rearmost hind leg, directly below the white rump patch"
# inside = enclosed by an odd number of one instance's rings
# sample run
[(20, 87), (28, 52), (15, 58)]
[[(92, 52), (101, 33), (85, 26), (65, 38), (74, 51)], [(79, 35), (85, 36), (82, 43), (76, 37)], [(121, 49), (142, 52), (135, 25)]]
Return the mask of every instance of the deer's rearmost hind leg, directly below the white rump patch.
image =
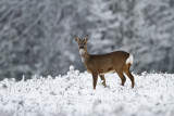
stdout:
[(132, 80), (132, 88), (134, 88), (134, 76), (132, 75), (132, 73), (129, 72), (129, 67), (130, 67), (130, 63), (126, 64), (124, 67), (124, 73), (127, 75), (127, 77)]

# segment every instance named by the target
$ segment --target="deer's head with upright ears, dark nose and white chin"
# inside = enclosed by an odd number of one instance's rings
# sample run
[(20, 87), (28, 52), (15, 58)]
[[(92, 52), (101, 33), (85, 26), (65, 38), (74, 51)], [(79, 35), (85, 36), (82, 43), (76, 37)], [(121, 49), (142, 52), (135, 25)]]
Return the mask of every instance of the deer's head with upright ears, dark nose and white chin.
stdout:
[(75, 36), (75, 40), (78, 43), (78, 50), (79, 54), (83, 55), (87, 52), (87, 41), (88, 41), (88, 35), (85, 37), (85, 39), (80, 40), (77, 36)]

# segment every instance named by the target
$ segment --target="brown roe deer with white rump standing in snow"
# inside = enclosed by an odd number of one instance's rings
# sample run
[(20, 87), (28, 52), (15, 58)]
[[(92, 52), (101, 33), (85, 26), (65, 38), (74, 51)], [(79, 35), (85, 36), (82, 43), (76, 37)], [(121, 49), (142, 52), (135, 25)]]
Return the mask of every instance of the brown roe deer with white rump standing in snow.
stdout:
[(96, 89), (98, 75), (102, 85), (105, 86), (104, 74), (107, 73), (117, 73), (122, 80), (122, 86), (124, 86), (126, 78), (123, 73), (125, 73), (132, 81), (132, 88), (134, 88), (134, 76), (129, 72), (129, 67), (133, 64), (133, 55), (124, 51), (115, 51), (108, 54), (92, 55), (87, 51), (88, 36), (84, 40), (80, 40), (75, 36), (75, 40), (78, 43), (78, 50), (83, 63), (85, 64), (87, 72), (92, 75), (92, 86)]

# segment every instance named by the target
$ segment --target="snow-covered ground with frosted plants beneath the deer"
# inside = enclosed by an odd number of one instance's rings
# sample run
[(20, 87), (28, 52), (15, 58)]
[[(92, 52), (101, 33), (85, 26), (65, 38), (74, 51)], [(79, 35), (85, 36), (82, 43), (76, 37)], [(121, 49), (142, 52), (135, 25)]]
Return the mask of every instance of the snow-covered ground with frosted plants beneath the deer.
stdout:
[(88, 73), (70, 67), (54, 79), (34, 77), (27, 81), (0, 81), (0, 116), (174, 116), (174, 75), (135, 75), (135, 88), (116, 74), (100, 78), (92, 89)]

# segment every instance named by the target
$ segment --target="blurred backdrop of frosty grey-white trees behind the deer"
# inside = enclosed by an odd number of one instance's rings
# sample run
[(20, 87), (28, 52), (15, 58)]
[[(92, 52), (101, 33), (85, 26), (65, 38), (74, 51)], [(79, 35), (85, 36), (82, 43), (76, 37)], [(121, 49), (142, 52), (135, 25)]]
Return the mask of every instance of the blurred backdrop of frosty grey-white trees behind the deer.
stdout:
[(173, 73), (173, 11), (171, 0), (1, 0), (1, 79), (84, 70), (75, 35), (89, 35), (90, 53), (133, 53), (136, 73)]

